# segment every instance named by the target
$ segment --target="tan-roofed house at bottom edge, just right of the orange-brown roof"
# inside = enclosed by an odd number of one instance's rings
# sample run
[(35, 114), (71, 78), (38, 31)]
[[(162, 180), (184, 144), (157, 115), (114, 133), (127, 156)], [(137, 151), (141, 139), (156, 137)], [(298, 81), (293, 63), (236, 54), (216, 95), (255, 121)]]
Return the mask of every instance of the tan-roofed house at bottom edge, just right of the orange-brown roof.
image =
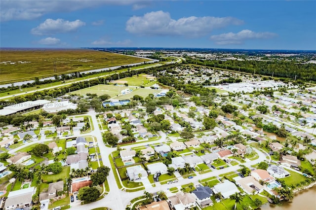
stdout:
[(175, 210), (187, 210), (197, 206), (195, 196), (182, 191), (176, 193), (174, 196), (170, 196), (168, 200), (170, 206)]

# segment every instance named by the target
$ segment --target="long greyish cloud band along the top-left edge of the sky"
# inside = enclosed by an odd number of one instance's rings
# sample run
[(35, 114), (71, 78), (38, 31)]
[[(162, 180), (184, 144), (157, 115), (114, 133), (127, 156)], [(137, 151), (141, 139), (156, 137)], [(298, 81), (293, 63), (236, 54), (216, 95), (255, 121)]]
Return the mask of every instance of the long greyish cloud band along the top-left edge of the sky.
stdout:
[[(0, 21), (32, 20), (47, 13), (70, 12), (102, 5), (147, 6), (144, 0), (1, 0)], [(136, 5), (136, 6), (134, 6)]]

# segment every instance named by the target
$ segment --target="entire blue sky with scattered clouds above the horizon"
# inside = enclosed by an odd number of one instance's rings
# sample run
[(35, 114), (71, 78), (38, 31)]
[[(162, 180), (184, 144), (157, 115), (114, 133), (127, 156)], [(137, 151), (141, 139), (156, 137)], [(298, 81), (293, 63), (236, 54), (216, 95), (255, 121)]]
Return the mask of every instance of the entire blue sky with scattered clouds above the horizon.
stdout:
[(1, 0), (0, 46), (316, 50), (316, 1)]

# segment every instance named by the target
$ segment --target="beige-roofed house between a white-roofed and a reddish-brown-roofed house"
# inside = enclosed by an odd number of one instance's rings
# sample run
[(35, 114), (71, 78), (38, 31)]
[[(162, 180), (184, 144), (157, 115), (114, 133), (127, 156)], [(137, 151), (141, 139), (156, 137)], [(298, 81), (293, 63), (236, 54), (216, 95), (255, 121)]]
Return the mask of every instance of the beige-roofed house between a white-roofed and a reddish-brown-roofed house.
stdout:
[(248, 195), (258, 194), (263, 192), (264, 186), (256, 181), (252, 176), (246, 176), (236, 181), (237, 185), (241, 187)]

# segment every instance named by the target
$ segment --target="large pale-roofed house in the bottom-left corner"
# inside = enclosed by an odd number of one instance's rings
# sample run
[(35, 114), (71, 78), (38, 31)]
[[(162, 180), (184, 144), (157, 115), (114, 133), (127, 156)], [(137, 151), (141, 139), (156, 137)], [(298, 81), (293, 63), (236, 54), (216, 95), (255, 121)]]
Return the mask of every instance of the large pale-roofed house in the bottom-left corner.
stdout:
[(36, 193), (35, 187), (11, 191), (4, 203), (5, 210), (23, 209), (32, 206), (32, 196)]

